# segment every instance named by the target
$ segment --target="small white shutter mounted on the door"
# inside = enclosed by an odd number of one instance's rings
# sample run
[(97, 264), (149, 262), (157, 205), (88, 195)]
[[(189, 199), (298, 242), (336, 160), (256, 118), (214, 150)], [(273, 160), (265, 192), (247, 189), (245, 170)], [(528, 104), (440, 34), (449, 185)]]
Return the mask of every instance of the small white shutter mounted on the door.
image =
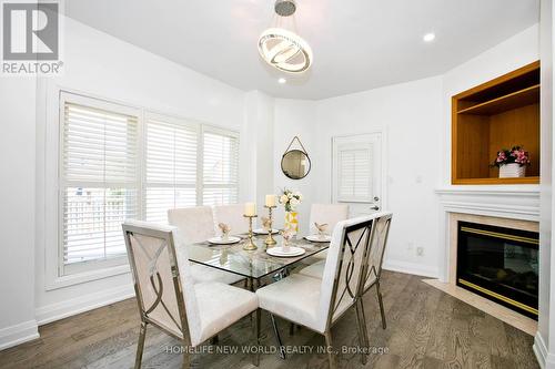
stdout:
[(372, 202), (372, 144), (337, 148), (337, 201)]

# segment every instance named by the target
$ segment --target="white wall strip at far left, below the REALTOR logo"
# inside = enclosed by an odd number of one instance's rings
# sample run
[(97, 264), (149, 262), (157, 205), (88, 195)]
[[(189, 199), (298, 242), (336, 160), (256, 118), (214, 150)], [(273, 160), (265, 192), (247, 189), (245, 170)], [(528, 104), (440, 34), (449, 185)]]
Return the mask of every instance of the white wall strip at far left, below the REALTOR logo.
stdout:
[(0, 349), (38, 337), (34, 320), (33, 78), (0, 82)]

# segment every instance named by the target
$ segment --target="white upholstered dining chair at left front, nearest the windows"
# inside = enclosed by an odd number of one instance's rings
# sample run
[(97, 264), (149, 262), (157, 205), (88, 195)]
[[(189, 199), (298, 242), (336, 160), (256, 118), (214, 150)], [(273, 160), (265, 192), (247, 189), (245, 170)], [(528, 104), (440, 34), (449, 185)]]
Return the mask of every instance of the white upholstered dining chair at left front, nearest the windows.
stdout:
[[(135, 368), (141, 367), (148, 325), (182, 341), (183, 368), (191, 365), (189, 348), (252, 312), (259, 345), (260, 309), (255, 294), (222, 283), (193, 283), (188, 249), (175, 245), (175, 227), (128, 221), (122, 228), (141, 315)], [(255, 356), (254, 365), (258, 363)]]

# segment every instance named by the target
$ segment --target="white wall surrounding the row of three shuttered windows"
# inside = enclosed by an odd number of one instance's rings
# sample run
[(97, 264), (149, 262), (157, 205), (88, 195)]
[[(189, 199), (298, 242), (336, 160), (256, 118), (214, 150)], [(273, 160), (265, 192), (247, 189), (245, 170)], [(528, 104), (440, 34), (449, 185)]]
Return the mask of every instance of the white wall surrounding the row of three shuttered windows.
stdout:
[[(56, 224), (47, 221), (56, 218), (56, 205), (50, 201), (56, 197), (56, 192), (52, 193), (48, 184), (56, 175), (56, 171), (51, 168), (56, 158), (51, 158), (52, 147), (44, 146), (44, 135), (49, 134), (49, 130), (58, 127), (56, 111), (58, 88), (235, 131), (244, 130), (244, 92), (71, 19), (65, 19), (64, 35), (64, 74), (41, 81), (39, 88), (38, 150), (44, 153), (39, 155), (37, 163), (40, 221), (36, 250), (36, 307), (39, 322), (50, 321), (133, 294), (129, 273), (64, 288), (46, 289), (46, 273), (48, 273), (44, 269), (46, 250), (58, 246), (56, 237), (51, 236)], [(241, 140), (241, 145), (244, 144), (246, 141)], [(241, 153), (243, 155), (245, 153), (243, 147)], [(243, 155), (241, 167), (246, 168), (250, 166), (250, 158)], [(241, 178), (245, 177), (241, 173)], [(240, 185), (246, 187), (244, 183)], [(244, 196), (244, 193), (241, 195)]]

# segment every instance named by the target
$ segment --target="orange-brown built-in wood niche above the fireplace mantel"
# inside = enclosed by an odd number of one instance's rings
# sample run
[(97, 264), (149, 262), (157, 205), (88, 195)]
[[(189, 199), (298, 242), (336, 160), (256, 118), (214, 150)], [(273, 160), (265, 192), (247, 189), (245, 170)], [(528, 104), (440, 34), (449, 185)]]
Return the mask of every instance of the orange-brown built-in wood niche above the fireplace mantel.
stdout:
[[(539, 183), (539, 61), (452, 98), (452, 183)], [(524, 178), (500, 178), (501, 148), (524, 146)]]

